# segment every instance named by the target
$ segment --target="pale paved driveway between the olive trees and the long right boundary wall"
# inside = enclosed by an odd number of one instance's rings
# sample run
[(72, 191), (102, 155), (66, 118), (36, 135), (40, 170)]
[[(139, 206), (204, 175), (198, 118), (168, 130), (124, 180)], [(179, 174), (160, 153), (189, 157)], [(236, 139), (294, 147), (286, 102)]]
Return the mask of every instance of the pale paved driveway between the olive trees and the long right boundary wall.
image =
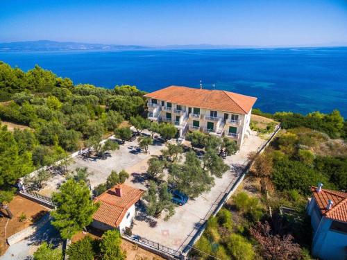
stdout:
[[(157, 225), (153, 227), (151, 225), (153, 218), (144, 217), (141, 212), (137, 212), (133, 234), (158, 242), (173, 250), (183, 250), (204, 219), (207, 219), (212, 213), (212, 209), (217, 207), (226, 188), (233, 184), (237, 176), (242, 173), (248, 153), (256, 151), (263, 143), (264, 139), (252, 132), (251, 136), (244, 141), (241, 150), (236, 155), (226, 158), (225, 162), (230, 166), (230, 171), (221, 178), (215, 178), (215, 185), (209, 192), (203, 193), (195, 200), (188, 200), (187, 204), (183, 206), (176, 207), (176, 214), (169, 220), (155, 219)], [(141, 171), (140, 168), (137, 169), (139, 173), (146, 172), (146, 166), (141, 169)]]

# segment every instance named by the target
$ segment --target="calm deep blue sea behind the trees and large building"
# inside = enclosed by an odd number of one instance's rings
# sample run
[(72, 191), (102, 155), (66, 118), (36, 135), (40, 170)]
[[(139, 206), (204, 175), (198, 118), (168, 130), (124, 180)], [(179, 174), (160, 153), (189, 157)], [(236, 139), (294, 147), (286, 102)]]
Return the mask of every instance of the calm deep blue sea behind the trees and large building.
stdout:
[(74, 83), (225, 89), (257, 96), (266, 112), (306, 114), (337, 108), (347, 117), (347, 47), (171, 51), (0, 52), (25, 71), (39, 64)]

